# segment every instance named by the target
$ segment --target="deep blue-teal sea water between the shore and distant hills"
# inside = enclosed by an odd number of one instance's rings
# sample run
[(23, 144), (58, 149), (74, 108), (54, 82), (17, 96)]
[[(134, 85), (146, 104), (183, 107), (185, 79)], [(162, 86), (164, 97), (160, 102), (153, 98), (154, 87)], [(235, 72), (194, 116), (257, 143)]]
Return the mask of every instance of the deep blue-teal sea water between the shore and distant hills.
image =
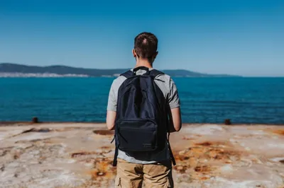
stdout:
[[(114, 78), (0, 78), (0, 121), (105, 122)], [(284, 124), (284, 78), (173, 78), (182, 122)]]

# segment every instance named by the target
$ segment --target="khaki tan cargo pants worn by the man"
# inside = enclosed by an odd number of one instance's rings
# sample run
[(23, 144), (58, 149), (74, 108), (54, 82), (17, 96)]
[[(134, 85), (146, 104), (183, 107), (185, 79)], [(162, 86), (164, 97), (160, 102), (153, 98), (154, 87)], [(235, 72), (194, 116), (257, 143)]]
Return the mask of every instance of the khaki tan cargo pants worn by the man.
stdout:
[(171, 162), (141, 165), (117, 159), (116, 187), (141, 188), (143, 182), (146, 188), (173, 187)]

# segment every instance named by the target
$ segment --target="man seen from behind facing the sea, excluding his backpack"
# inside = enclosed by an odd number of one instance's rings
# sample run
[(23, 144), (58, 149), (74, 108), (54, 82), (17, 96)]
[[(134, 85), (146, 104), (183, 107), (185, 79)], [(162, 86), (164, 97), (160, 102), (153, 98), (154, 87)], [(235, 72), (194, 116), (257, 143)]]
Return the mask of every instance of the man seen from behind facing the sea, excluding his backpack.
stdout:
[[(133, 57), (137, 67), (146, 67), (153, 70), (153, 61), (157, 57), (158, 39), (152, 33), (141, 33), (135, 37)], [(133, 71), (133, 69), (131, 69)], [(135, 71), (136, 75), (146, 74), (143, 69)], [(109, 91), (107, 106), (107, 128), (115, 129), (116, 107), (119, 88), (126, 81), (126, 77), (119, 76), (114, 80)], [(155, 84), (163, 92), (170, 108), (170, 132), (180, 131), (181, 115), (178, 90), (172, 78), (166, 74), (155, 77)], [(166, 129), (166, 128), (165, 128)], [(168, 145), (158, 152), (126, 152), (118, 150), (116, 187), (173, 187), (172, 164)]]

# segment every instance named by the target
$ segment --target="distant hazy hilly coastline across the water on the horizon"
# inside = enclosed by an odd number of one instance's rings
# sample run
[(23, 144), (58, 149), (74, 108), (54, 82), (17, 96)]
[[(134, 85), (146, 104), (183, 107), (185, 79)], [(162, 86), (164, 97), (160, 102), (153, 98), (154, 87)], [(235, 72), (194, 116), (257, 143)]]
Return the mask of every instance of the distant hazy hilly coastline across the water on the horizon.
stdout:
[[(71, 66), (28, 66), (0, 63), (0, 77), (116, 77), (129, 69), (84, 69)], [(226, 74), (201, 74), (183, 69), (161, 70), (173, 77), (236, 77)]]

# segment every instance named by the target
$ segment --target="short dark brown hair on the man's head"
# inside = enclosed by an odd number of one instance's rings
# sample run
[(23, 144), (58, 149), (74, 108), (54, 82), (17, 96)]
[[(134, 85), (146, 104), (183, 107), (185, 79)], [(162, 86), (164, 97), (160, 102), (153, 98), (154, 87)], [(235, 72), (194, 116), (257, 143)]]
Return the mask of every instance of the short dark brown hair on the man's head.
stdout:
[(143, 32), (135, 37), (134, 49), (138, 57), (151, 58), (158, 48), (158, 39), (153, 33)]

